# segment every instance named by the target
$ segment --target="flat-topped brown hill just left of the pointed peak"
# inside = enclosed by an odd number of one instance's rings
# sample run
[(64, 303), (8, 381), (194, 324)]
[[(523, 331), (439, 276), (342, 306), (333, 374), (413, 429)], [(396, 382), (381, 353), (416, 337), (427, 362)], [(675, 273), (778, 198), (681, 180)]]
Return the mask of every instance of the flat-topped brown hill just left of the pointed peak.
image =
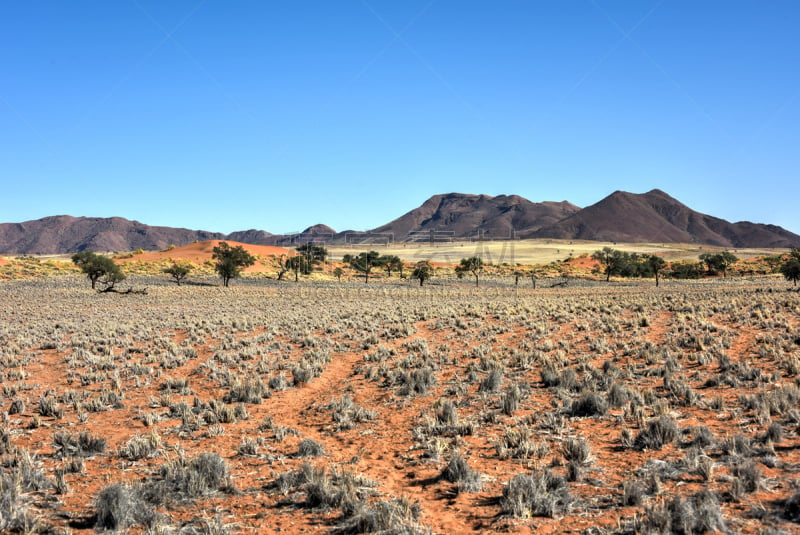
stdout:
[(371, 232), (392, 233), (395, 241), (482, 235), (500, 239), (524, 237), (552, 225), (579, 208), (567, 201), (534, 203), (518, 195), (434, 195), (422, 206)]

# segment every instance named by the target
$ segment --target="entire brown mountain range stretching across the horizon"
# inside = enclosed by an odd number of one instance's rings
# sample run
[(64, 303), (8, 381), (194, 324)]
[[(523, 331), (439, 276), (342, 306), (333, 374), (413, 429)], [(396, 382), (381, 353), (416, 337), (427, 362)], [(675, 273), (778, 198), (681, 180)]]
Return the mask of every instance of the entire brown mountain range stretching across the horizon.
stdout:
[(120, 217), (51, 216), (0, 224), (0, 253), (157, 250), (215, 239), (291, 246), (308, 241), (369, 244), (523, 238), (697, 243), (731, 248), (800, 246), (800, 236), (779, 226), (730, 223), (696, 212), (654, 189), (642, 194), (615, 191), (582, 209), (567, 201), (535, 203), (517, 195), (434, 195), (418, 208), (367, 232), (336, 232), (325, 225), (314, 225), (292, 235), (255, 229), (225, 235), (154, 227)]

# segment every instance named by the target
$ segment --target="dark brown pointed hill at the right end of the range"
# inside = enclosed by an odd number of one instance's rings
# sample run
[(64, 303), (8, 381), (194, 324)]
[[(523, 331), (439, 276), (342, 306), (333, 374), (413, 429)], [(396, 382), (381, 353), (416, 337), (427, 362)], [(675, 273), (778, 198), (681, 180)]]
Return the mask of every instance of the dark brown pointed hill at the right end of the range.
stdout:
[(615, 191), (533, 237), (611, 242), (702, 243), (720, 247), (793, 247), (800, 236), (775, 225), (730, 223), (696, 212), (661, 190)]

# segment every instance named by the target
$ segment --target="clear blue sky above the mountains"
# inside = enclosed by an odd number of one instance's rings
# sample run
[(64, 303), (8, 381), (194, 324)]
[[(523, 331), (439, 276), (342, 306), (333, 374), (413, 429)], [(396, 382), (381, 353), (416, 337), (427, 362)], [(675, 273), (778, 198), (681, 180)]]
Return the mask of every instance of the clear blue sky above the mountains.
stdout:
[(376, 227), (660, 188), (800, 232), (796, 0), (0, 5), (0, 221)]

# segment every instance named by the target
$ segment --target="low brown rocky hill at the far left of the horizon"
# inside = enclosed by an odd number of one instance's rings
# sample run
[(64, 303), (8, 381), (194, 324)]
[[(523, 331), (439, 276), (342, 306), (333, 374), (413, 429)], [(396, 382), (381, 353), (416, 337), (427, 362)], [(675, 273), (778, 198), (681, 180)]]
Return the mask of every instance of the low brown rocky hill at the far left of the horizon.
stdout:
[(58, 254), (77, 251), (164, 249), (196, 240), (224, 238), (204, 230), (154, 227), (121, 217), (45, 217), (0, 224), (0, 253)]

